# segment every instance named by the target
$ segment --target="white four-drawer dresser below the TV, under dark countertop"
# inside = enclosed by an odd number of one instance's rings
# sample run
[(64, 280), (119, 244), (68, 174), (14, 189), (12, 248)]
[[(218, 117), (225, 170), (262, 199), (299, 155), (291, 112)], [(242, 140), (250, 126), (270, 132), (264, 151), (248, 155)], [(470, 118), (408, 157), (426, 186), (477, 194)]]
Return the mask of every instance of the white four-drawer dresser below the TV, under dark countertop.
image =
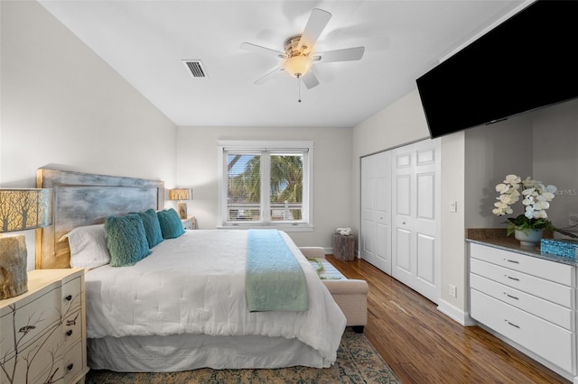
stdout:
[(578, 383), (576, 266), (470, 243), (470, 314)]

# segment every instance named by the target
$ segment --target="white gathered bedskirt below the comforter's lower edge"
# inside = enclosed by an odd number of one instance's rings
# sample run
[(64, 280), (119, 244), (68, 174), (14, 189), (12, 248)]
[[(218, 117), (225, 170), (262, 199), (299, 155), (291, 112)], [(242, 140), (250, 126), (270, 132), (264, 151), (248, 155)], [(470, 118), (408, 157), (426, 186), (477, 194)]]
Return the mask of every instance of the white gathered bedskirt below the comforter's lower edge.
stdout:
[(88, 348), (91, 369), (117, 372), (331, 366), (318, 351), (297, 339), (259, 335), (104, 337), (89, 339)]

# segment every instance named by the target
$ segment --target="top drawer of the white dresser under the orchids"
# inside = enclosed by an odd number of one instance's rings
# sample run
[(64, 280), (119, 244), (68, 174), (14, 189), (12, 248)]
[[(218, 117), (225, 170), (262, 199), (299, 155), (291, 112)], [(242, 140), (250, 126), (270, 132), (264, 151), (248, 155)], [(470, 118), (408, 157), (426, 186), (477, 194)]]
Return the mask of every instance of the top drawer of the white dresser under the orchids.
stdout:
[(542, 279), (555, 281), (566, 286), (573, 286), (573, 266), (554, 261), (547, 261), (516, 252), (499, 250), (485, 245), (470, 244), (472, 258), (488, 261), (499, 266), (527, 273)]

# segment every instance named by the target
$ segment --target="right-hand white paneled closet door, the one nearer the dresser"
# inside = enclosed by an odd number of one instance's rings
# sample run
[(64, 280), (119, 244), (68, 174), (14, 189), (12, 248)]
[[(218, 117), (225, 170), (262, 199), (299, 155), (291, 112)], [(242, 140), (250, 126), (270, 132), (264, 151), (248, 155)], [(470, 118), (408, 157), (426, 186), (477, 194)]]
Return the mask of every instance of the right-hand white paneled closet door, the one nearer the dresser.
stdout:
[(416, 142), (392, 155), (392, 276), (437, 302), (440, 142)]

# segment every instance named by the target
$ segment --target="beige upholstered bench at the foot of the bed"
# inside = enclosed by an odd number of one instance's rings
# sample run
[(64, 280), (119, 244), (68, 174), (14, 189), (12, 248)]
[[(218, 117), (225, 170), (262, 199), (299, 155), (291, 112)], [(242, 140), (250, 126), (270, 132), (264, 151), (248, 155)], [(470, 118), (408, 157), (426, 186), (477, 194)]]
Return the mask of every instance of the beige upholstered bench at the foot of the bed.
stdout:
[(325, 259), (321, 247), (301, 247), (300, 250), (306, 258), (317, 260), (311, 261), (313, 268), (318, 269), (321, 264), (320, 278), (347, 318), (347, 325), (352, 326), (355, 332), (362, 333), (363, 327), (368, 324), (368, 282), (347, 279)]

